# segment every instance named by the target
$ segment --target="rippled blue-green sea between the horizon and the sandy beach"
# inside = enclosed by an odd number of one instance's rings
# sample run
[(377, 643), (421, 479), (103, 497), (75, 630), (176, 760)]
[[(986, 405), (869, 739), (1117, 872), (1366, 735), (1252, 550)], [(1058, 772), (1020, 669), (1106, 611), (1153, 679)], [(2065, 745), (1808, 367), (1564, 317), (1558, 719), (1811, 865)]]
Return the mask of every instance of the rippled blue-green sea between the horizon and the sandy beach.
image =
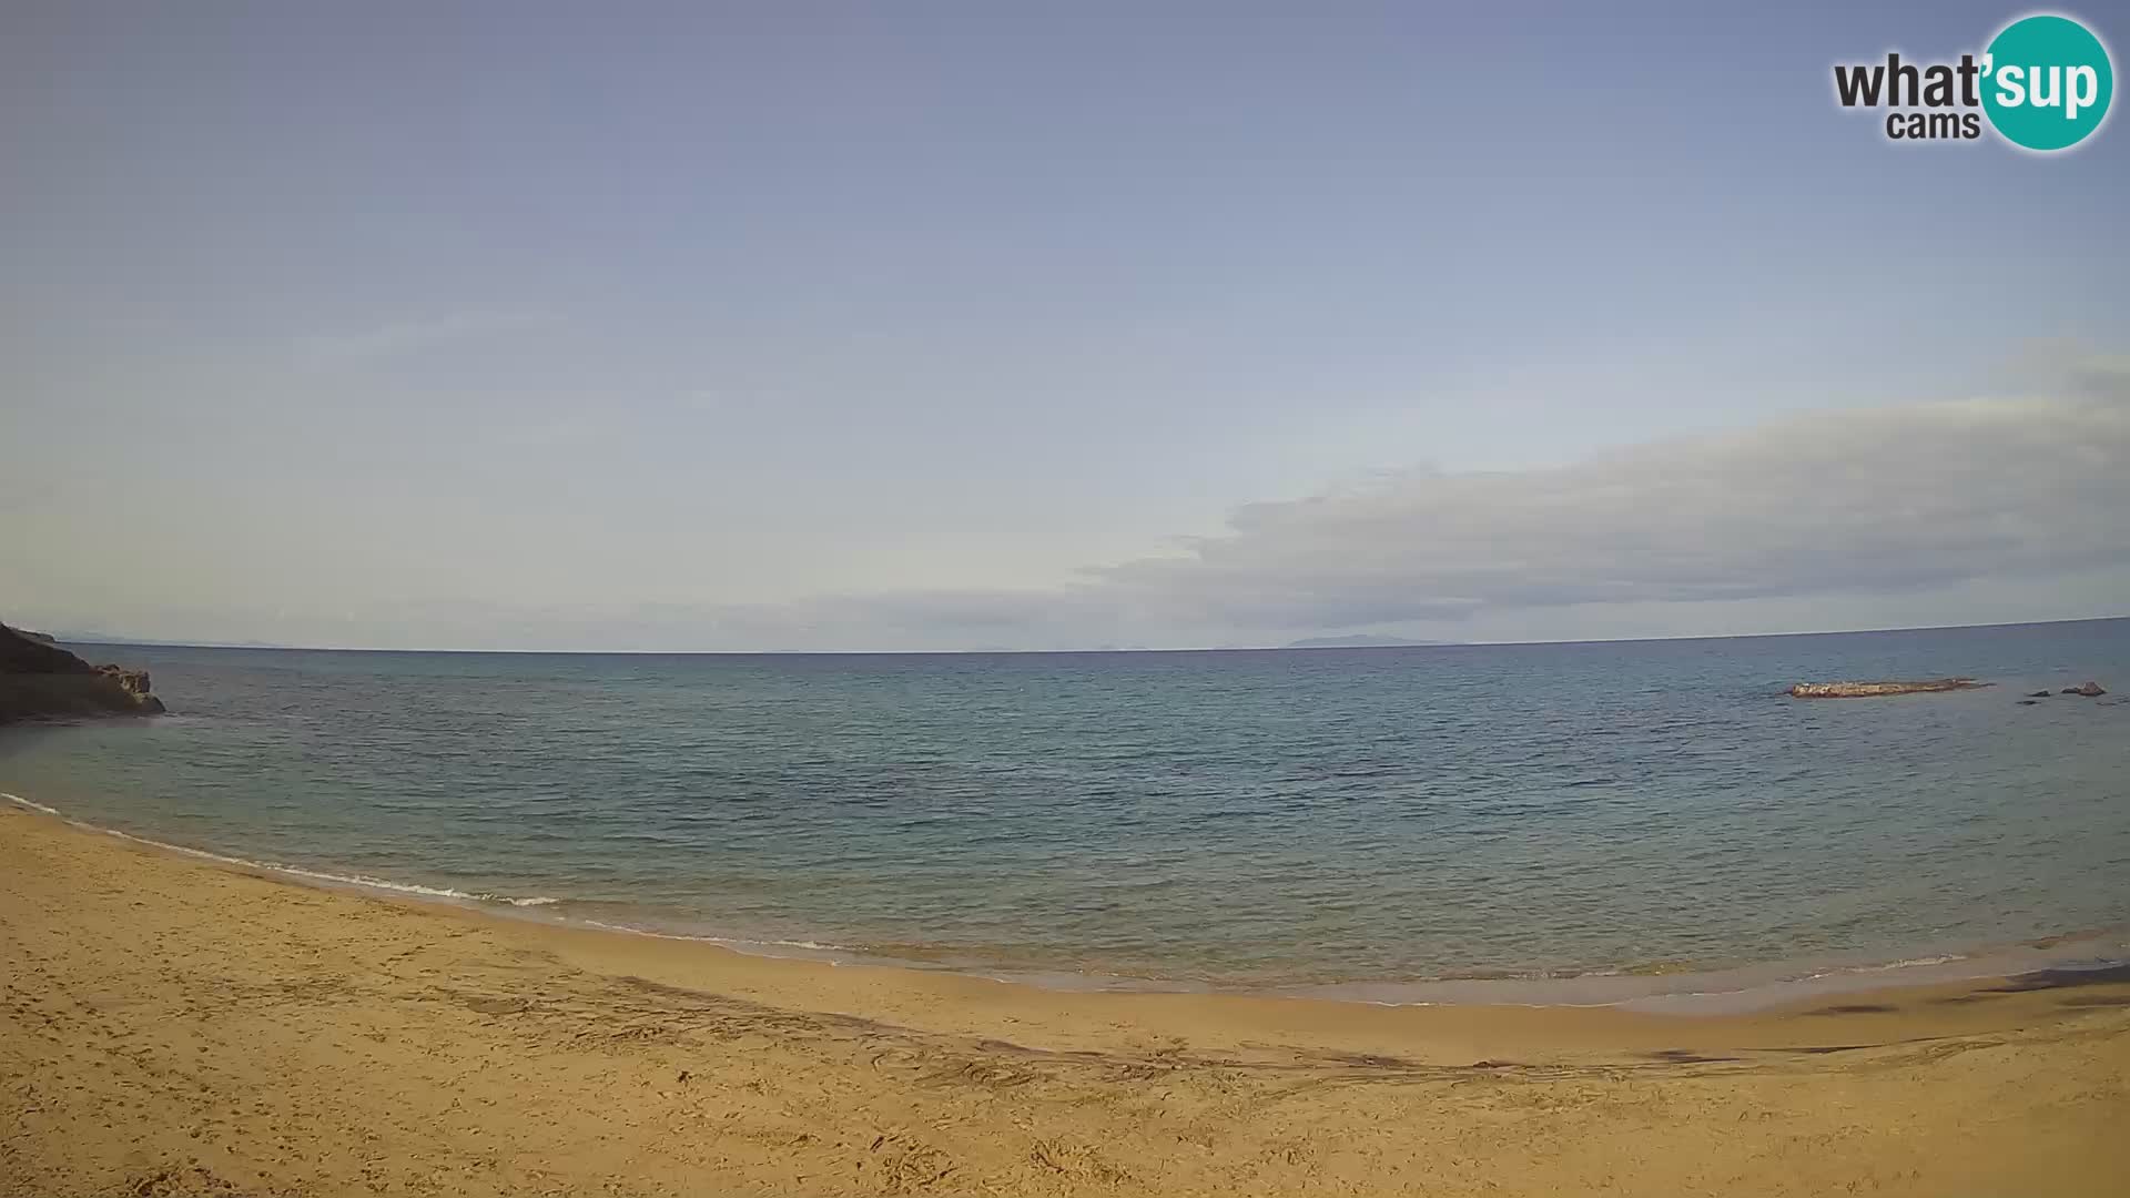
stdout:
[[(1165, 985), (1896, 961), (2130, 923), (2130, 620), (1310, 652), (94, 648), (0, 791), (509, 910)], [(1796, 680), (1985, 691), (1796, 701)]]

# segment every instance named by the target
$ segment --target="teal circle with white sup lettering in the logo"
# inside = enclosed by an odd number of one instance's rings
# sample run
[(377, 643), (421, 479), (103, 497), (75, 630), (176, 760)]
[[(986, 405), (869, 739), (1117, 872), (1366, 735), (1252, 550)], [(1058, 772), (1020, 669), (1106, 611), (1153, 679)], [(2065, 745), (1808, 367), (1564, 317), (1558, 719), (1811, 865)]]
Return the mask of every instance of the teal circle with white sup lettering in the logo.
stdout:
[(2115, 98), (2109, 47), (2070, 17), (2021, 17), (2004, 26), (1985, 62), (1983, 111), (2004, 141), (2026, 149), (2070, 149), (2100, 128)]

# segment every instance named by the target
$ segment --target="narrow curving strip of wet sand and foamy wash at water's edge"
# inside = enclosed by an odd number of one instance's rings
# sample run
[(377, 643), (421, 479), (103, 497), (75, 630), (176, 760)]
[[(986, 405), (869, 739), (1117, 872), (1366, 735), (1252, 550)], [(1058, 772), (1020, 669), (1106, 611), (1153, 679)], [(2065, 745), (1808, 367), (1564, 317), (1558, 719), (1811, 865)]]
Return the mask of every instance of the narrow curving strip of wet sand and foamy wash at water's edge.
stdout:
[[(0, 791), (13, 802), (68, 827), (111, 836), (158, 853), (175, 853), (219, 868), (249, 872), (283, 885), (388, 897), (424, 906), (466, 910), (486, 919), (530, 921), (550, 927), (573, 927), (607, 936), (637, 936), (673, 944), (703, 944), (767, 961), (820, 961), (848, 968), (905, 970), (920, 974), (969, 976), (1001, 985), (1022, 985), (1052, 993), (1195, 993), (1225, 998), (1310, 1000), (1363, 1006), (1519, 1006), (1519, 1008), (1623, 1008), (1666, 1015), (1738, 1015), (1776, 1010), (1815, 998), (1840, 998), (1881, 989), (1921, 985), (1957, 985), (2009, 978), (2041, 970), (2111, 970), (2130, 966), (2130, 925), (2049, 934), (2019, 942), (1943, 944), (1917, 949), (1915, 955), (1877, 959), (1864, 953), (1825, 953), (1819, 957), (1783, 957), (1719, 968), (1678, 970), (1606, 970), (1578, 974), (1517, 976), (1427, 976), (1427, 978), (1357, 978), (1331, 983), (1218, 985), (1180, 978), (1140, 978), (1101, 972), (1069, 972), (1044, 968), (1007, 968), (986, 964), (946, 964), (873, 953), (818, 940), (750, 940), (739, 936), (694, 934), (628, 923), (609, 923), (579, 914), (547, 910), (569, 904), (550, 895), (494, 895), (422, 883), (396, 883), (362, 874), (337, 874), (305, 865), (253, 861), (213, 848), (173, 844), (132, 831), (77, 821), (64, 810), (36, 799)], [(4, 810), (4, 808), (0, 808)]]

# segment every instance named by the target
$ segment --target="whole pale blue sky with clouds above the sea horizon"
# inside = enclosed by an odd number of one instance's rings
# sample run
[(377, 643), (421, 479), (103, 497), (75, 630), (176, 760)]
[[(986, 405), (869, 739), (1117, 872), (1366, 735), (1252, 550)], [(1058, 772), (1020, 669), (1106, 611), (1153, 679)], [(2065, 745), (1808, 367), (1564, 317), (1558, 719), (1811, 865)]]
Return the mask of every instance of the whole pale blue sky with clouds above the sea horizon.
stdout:
[(2130, 130), (1896, 145), (1832, 98), (2019, 13), (17, 0), (0, 618), (918, 650), (2126, 616)]

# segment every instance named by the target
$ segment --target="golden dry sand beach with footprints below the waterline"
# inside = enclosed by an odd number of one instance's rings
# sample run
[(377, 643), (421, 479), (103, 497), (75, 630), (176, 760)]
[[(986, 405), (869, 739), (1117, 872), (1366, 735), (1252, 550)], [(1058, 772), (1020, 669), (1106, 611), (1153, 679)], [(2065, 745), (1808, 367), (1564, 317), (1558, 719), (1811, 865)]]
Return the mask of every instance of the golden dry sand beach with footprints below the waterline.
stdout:
[(1753, 1017), (1052, 993), (0, 814), (0, 1194), (2130, 1194), (2130, 981)]

